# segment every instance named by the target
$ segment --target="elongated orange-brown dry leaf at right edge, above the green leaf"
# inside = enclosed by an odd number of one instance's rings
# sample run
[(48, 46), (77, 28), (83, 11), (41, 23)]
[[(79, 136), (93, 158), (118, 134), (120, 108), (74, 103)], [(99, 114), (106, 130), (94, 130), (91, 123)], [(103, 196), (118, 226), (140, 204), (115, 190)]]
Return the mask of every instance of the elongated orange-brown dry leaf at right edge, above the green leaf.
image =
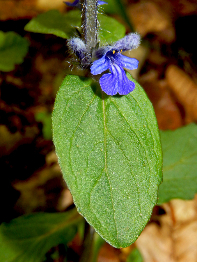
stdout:
[(197, 121), (197, 85), (176, 65), (169, 65), (166, 80), (186, 113), (186, 122)]

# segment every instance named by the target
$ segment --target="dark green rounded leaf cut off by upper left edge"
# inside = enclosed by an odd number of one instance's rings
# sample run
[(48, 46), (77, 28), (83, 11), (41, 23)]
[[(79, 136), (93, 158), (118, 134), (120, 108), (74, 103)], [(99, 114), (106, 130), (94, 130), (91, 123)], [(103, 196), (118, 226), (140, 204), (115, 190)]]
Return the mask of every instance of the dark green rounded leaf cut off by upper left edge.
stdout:
[(0, 31), (0, 71), (9, 72), (24, 61), (29, 42), (15, 32)]

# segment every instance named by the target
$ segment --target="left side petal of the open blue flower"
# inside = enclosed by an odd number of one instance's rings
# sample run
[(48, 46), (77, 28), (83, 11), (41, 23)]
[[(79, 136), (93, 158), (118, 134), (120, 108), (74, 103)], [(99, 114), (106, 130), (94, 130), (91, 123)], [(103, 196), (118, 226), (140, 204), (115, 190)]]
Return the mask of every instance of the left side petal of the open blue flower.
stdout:
[(109, 58), (104, 55), (100, 59), (93, 62), (92, 66), (90, 67), (90, 72), (93, 75), (101, 74), (102, 72), (110, 68), (110, 63), (111, 61), (109, 60)]

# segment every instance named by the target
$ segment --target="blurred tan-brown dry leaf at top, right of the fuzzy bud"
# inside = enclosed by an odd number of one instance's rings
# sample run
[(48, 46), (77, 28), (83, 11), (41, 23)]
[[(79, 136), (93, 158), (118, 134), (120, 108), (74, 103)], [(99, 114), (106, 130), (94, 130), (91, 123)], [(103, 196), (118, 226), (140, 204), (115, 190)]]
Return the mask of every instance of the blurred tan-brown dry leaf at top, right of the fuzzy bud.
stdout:
[(171, 10), (171, 4), (165, 1), (163, 5), (162, 2), (141, 0), (131, 4), (128, 13), (135, 29), (142, 37), (147, 33), (155, 33), (165, 42), (170, 43), (175, 40), (175, 31), (171, 15), (164, 12), (163, 7), (169, 5), (168, 9)]

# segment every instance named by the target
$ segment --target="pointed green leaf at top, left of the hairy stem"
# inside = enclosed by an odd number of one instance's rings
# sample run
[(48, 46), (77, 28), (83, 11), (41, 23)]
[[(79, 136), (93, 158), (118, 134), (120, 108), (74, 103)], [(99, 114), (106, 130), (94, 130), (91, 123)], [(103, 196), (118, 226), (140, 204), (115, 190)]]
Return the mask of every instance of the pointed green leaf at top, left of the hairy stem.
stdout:
[(57, 10), (50, 10), (33, 18), (26, 24), (24, 30), (70, 38), (76, 33), (75, 27), (80, 26), (81, 20), (78, 10), (72, 10), (66, 14), (61, 14)]

